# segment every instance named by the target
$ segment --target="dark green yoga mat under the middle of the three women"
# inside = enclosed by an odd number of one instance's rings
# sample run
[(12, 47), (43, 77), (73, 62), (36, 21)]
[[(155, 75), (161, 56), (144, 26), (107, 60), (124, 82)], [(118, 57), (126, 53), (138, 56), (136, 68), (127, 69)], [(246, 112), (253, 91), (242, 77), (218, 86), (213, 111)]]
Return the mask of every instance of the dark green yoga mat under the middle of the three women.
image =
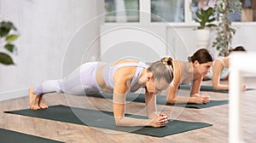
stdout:
[[(110, 93), (98, 93), (98, 94), (88, 94), (87, 96), (91, 97), (97, 97), (97, 98), (106, 98), (106, 99), (112, 99), (113, 94)], [(134, 102), (144, 102), (145, 103), (145, 94), (126, 94), (126, 100), (128, 101), (134, 101)], [(221, 106), (224, 104), (228, 104), (228, 100), (210, 100), (207, 104), (171, 104), (166, 103), (166, 95), (156, 95), (156, 103), (159, 105), (167, 105), (167, 106), (183, 106), (186, 108), (195, 108), (195, 109), (201, 109), (201, 108), (207, 108), (211, 106)]]

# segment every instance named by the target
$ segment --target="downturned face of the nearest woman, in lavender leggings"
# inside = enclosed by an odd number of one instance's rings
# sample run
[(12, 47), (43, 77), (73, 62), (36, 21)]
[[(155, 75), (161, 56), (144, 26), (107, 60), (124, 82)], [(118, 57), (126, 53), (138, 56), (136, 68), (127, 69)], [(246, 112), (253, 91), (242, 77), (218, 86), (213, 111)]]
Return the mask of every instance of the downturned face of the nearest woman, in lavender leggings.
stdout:
[(161, 92), (164, 89), (168, 88), (169, 83), (167, 83), (164, 78), (161, 78), (160, 80), (156, 80), (156, 81), (151, 79), (146, 83), (146, 86), (149, 93), (161, 94)]

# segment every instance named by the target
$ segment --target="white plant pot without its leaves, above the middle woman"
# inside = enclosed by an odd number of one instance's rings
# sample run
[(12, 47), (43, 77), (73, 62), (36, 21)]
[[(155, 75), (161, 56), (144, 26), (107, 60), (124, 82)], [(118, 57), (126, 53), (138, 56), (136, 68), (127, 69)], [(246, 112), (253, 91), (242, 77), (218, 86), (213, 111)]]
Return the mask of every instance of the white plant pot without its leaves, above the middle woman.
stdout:
[(211, 31), (209, 29), (197, 29), (195, 31), (196, 46), (198, 49), (207, 49), (211, 40)]

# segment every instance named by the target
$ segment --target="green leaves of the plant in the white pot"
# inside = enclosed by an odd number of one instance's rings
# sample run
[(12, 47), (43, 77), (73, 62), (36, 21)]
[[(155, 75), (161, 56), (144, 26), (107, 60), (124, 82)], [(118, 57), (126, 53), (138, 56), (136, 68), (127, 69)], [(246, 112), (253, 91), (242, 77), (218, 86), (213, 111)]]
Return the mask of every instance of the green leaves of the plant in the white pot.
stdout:
[(195, 22), (200, 24), (197, 29), (205, 29), (206, 27), (216, 26), (215, 24), (212, 24), (212, 22), (215, 21), (212, 8), (197, 10), (195, 15)]

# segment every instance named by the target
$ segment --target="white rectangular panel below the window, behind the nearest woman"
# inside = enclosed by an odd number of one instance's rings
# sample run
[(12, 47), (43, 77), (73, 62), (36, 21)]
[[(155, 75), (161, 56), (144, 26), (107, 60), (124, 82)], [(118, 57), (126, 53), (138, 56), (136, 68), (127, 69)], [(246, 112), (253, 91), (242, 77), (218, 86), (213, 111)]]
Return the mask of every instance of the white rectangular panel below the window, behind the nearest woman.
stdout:
[[(114, 54), (114, 56), (113, 56)], [(166, 26), (102, 26), (101, 60), (137, 58), (154, 62), (166, 55)]]

